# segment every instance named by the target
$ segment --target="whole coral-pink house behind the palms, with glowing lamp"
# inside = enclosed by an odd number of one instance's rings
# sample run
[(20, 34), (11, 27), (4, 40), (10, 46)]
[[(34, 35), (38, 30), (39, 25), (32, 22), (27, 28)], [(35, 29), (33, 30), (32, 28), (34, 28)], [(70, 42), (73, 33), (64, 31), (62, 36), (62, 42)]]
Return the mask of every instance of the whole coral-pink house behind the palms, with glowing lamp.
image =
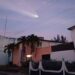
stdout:
[[(43, 55), (50, 54), (51, 53), (51, 46), (61, 44), (61, 42), (52, 41), (52, 40), (45, 40), (41, 39), (41, 46), (36, 48), (36, 52), (32, 55), (32, 60), (35, 62), (39, 62), (42, 59)], [(17, 66), (21, 66), (21, 60), (27, 61), (29, 60), (29, 56), (31, 55), (30, 51), (31, 48), (27, 45), (25, 45), (25, 53), (23, 51), (22, 53), (22, 43), (19, 43), (17, 47), (13, 50), (13, 64), (16, 64)], [(27, 56), (27, 57), (26, 57)]]

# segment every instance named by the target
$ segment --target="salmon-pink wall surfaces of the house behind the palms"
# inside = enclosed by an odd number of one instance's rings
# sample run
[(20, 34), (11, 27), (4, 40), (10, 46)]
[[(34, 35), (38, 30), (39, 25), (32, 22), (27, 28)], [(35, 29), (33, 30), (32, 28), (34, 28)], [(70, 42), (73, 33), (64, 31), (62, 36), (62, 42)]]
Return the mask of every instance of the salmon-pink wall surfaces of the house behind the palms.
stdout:
[[(15, 48), (14, 51), (13, 51), (13, 64), (16, 64), (17, 66), (21, 66), (21, 63), (20, 63), (21, 50), (22, 50), (22, 46), (21, 47), (19, 46), (19, 48)], [(51, 46), (37, 48), (36, 52), (33, 53), (32, 60), (35, 61), (35, 62), (38, 62), (38, 61), (41, 60), (42, 55), (50, 54), (50, 52), (51, 52)], [(31, 54), (31, 48), (28, 47), (28, 46), (26, 46), (25, 55), (27, 55), (27, 54)], [(25, 58), (26, 58), (26, 56), (25, 56)]]

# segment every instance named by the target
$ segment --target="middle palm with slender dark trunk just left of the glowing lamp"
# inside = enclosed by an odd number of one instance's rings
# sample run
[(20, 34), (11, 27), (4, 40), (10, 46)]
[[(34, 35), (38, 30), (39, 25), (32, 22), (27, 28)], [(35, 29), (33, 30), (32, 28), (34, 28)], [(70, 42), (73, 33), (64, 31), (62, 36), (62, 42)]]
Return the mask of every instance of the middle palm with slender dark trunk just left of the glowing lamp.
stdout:
[(24, 63), (24, 56), (26, 53), (26, 42), (27, 42), (26, 36), (21, 36), (20, 38), (18, 38), (18, 42), (22, 43), (21, 63)]

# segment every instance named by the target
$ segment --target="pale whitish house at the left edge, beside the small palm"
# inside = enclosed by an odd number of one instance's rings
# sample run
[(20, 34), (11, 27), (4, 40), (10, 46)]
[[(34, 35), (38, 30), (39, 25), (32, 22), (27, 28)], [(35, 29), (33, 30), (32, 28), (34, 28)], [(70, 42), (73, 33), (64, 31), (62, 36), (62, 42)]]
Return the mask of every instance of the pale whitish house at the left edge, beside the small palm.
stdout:
[(4, 46), (15, 42), (15, 38), (5, 37), (0, 35), (0, 65), (6, 65), (8, 64), (8, 55), (7, 53), (4, 53)]

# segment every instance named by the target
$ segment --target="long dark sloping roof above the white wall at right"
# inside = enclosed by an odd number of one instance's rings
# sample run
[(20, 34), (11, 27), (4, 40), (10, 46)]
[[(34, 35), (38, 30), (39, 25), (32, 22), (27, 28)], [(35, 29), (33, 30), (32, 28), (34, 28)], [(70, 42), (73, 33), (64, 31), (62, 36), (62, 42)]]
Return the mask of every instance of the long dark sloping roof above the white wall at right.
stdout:
[(75, 48), (74, 48), (73, 42), (52, 46), (53, 52), (55, 52), (55, 51), (65, 51), (65, 50), (74, 50), (74, 49)]

